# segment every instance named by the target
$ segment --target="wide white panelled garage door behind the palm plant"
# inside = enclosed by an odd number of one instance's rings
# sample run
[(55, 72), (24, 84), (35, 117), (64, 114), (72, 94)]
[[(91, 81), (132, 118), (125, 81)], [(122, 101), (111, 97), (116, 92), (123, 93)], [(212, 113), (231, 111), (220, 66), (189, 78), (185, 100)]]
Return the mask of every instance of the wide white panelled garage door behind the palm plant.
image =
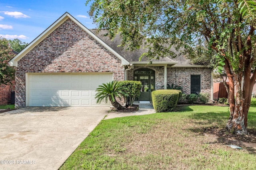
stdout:
[(96, 103), (95, 90), (113, 74), (27, 74), (27, 79), (27, 106), (110, 106)]

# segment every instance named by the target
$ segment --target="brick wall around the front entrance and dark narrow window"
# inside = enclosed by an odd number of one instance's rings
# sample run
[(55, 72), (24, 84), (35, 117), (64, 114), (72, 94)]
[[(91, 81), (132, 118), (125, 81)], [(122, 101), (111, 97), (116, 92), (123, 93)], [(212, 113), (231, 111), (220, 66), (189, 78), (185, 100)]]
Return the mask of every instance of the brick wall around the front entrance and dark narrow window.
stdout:
[[(163, 66), (134, 66), (133, 69), (127, 71), (127, 80), (134, 80), (134, 71), (140, 68), (150, 68), (155, 71), (155, 89), (161, 89), (164, 86), (164, 67)], [(167, 83), (182, 86), (184, 93), (190, 94), (190, 75), (201, 75), (201, 92), (211, 92), (211, 69), (202, 67), (168, 67)]]

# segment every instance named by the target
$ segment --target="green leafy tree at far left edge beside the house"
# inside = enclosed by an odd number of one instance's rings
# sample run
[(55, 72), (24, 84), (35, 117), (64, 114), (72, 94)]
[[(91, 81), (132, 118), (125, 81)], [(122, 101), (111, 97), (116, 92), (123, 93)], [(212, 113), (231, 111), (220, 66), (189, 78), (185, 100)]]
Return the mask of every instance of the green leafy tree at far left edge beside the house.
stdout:
[(0, 37), (0, 84), (8, 84), (14, 80), (15, 68), (8, 61), (15, 55), (8, 45), (8, 40)]

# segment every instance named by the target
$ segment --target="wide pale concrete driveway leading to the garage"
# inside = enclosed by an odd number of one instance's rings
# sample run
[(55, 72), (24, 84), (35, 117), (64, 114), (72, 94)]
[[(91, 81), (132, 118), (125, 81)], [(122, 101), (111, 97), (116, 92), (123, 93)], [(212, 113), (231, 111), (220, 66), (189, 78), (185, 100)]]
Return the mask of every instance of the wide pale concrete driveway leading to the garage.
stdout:
[(57, 170), (109, 107), (26, 107), (0, 113), (0, 169)]

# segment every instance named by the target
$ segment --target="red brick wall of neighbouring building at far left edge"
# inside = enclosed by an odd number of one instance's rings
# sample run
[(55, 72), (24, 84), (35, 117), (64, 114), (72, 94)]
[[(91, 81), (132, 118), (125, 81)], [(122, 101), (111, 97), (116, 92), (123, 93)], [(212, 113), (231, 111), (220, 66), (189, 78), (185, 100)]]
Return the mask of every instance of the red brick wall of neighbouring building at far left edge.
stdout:
[(0, 85), (0, 105), (6, 105), (11, 103), (11, 92), (15, 90), (15, 81), (11, 84)]

